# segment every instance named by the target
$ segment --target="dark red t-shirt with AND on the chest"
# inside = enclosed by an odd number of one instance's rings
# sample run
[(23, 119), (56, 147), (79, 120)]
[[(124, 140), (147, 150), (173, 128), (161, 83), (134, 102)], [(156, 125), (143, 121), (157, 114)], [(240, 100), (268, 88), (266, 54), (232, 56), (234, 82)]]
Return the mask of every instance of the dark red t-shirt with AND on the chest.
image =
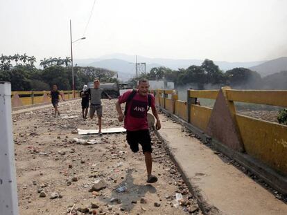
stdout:
[[(119, 96), (119, 103), (125, 103), (132, 91), (127, 91)], [(155, 107), (155, 97), (151, 95), (150, 107)], [(148, 95), (142, 96), (135, 93), (134, 97), (128, 102), (128, 111), (125, 115), (124, 128), (128, 131), (148, 129), (148, 118), (146, 110), (148, 108)]]

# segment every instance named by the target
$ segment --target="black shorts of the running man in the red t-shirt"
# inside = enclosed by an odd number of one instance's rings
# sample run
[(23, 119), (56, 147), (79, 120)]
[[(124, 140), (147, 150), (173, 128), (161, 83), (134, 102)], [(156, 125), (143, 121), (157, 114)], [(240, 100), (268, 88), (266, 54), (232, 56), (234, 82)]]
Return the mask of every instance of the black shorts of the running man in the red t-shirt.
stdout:
[(139, 151), (139, 144), (141, 144), (143, 153), (146, 151), (153, 152), (151, 147), (150, 131), (148, 130), (127, 131), (127, 141), (133, 152)]

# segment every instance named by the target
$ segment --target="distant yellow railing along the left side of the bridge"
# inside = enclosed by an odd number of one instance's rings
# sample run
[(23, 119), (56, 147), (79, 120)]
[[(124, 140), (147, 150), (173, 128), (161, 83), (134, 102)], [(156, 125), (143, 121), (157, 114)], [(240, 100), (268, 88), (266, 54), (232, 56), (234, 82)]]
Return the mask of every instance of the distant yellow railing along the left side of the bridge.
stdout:
[[(73, 99), (73, 91), (60, 91), (64, 100)], [(50, 91), (13, 91), (12, 107), (27, 106), (33, 104), (43, 104), (51, 102)], [(75, 97), (80, 97), (79, 91), (75, 91)], [(62, 99), (62, 97), (60, 97)]]

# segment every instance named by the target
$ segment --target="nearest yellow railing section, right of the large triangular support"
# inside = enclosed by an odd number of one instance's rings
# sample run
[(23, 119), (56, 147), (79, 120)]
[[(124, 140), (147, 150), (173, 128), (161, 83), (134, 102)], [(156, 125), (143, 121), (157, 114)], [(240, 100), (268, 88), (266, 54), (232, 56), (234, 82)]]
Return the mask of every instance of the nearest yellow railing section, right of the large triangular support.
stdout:
[[(229, 102), (246, 102), (287, 107), (287, 91), (226, 90)], [(287, 173), (287, 126), (235, 113), (238, 129), (248, 154)]]

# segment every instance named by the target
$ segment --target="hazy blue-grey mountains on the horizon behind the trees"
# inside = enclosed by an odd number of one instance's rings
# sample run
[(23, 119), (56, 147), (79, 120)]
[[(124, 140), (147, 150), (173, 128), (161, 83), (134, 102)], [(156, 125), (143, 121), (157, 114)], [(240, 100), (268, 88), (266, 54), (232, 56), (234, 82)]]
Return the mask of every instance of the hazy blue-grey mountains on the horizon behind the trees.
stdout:
[[(137, 62), (139, 63), (146, 63), (146, 72), (150, 71), (151, 68), (158, 66), (165, 66), (174, 70), (178, 68), (187, 68), (191, 65), (200, 66), (204, 61), (204, 59), (167, 59), (143, 56), (137, 56), (137, 59)], [(94, 66), (116, 71), (119, 75), (119, 79), (123, 81), (127, 81), (135, 76), (135, 61), (136, 57), (134, 55), (125, 55), (121, 53), (104, 55), (98, 58), (74, 60), (75, 64), (78, 64), (78, 66)], [(214, 61), (214, 64), (218, 65), (223, 71), (236, 67), (250, 68), (252, 71), (258, 72), (263, 77), (273, 73), (279, 73), (280, 71), (286, 71), (287, 57), (257, 62)], [(143, 69), (139, 72), (143, 72)]]

